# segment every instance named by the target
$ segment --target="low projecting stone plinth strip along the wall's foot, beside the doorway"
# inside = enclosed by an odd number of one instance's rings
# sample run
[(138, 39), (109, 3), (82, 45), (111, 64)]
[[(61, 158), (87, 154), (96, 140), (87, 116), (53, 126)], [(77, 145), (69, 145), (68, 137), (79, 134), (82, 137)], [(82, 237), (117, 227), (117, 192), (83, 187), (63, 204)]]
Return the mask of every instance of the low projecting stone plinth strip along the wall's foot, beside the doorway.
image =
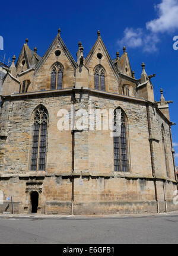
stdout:
[[(166, 212), (165, 201), (159, 201), (160, 213)], [(178, 210), (178, 204), (167, 201), (167, 211)], [(12, 213), (11, 201), (0, 204), (0, 213)], [(29, 213), (21, 202), (14, 202), (14, 213)], [(45, 214), (68, 214), (72, 213), (72, 203), (67, 201), (46, 201), (38, 213)], [(74, 215), (97, 215), (97, 214), (136, 214), (157, 213), (156, 201), (118, 201), (118, 202), (93, 202), (73, 203)]]

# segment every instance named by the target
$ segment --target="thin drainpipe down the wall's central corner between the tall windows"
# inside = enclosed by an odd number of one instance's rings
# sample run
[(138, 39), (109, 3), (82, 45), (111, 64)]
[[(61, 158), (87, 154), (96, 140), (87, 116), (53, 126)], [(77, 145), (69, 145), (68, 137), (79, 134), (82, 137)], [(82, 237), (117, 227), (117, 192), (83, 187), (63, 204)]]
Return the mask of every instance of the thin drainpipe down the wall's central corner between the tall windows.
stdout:
[(72, 103), (73, 103), (73, 116), (72, 116), (72, 172), (71, 172), (71, 179), (72, 179), (72, 197), (71, 197), (71, 215), (73, 215), (73, 204), (74, 204), (74, 176), (72, 176), (74, 172), (74, 148), (75, 148), (75, 92), (72, 92)]

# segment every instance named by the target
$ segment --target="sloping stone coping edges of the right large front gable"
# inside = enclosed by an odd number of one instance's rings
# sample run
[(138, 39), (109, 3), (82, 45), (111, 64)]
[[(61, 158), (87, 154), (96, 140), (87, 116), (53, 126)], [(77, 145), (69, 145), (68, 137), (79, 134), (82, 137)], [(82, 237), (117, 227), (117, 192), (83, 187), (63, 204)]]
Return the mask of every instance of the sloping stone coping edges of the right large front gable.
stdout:
[(90, 52), (87, 55), (87, 58), (85, 58), (85, 66), (87, 67), (87, 64), (90, 62), (90, 60), (91, 60), (91, 58), (93, 56), (93, 53), (98, 48), (98, 45), (100, 45), (101, 48), (103, 48), (104, 53), (106, 53), (105, 56), (107, 58), (107, 61), (109, 62), (110, 68), (112, 69), (112, 71), (115, 74), (115, 77), (116, 77), (116, 79), (118, 81), (119, 80), (119, 76), (117, 74), (117, 69), (115, 67), (115, 64), (113, 64), (112, 58), (110, 58), (109, 52), (107, 51), (106, 46), (104, 45), (104, 42), (103, 42), (103, 40), (101, 39), (100, 36), (98, 36), (98, 38), (96, 40), (96, 43), (94, 44), (93, 48), (91, 48)]

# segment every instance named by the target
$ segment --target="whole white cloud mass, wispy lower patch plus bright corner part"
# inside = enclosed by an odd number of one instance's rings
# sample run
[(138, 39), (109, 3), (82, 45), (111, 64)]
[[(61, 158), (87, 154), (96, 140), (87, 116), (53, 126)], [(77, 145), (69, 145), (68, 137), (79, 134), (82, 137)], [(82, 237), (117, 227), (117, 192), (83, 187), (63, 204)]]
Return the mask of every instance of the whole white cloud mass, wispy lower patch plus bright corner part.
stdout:
[(123, 38), (117, 41), (120, 47), (142, 48), (143, 52), (155, 52), (160, 41), (160, 33), (178, 29), (178, 0), (162, 0), (155, 5), (158, 18), (148, 21), (145, 29), (127, 27)]

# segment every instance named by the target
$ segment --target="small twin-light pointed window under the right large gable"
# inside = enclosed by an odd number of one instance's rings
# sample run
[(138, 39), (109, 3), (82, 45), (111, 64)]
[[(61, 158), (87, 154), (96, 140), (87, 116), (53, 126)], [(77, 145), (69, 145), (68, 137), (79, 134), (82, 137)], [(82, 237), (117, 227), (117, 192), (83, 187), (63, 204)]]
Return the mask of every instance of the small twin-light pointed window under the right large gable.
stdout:
[(94, 89), (105, 91), (105, 71), (101, 65), (94, 69)]

